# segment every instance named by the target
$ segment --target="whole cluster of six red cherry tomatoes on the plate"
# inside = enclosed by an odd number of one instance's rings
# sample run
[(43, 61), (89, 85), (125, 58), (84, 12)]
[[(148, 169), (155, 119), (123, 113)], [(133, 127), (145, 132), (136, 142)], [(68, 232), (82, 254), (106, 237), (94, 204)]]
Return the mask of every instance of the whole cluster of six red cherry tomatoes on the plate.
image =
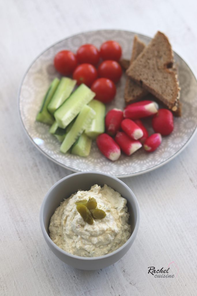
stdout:
[[(120, 44), (113, 40), (104, 42), (100, 50), (93, 44), (84, 44), (76, 54), (69, 50), (58, 52), (54, 58), (54, 66), (62, 75), (72, 75), (78, 85), (86, 84), (95, 92), (95, 99), (107, 104), (114, 99), (114, 83), (117, 83), (122, 75), (118, 63), (121, 54)], [(98, 65), (101, 59), (103, 61)]]

